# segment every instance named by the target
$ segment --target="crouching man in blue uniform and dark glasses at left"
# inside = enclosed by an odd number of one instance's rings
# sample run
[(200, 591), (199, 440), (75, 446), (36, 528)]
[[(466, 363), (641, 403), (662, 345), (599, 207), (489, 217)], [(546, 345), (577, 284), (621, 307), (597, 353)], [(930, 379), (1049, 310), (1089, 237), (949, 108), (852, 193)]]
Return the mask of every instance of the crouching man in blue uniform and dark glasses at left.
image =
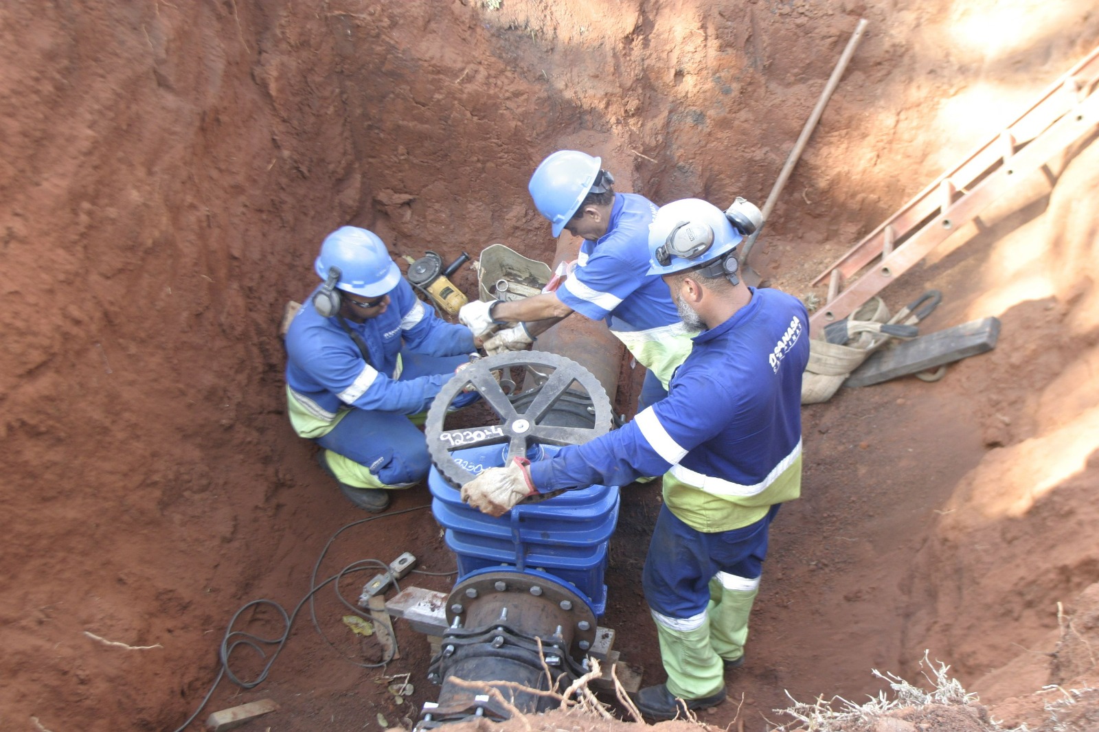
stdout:
[[(290, 423), (322, 447), (321, 467), (344, 496), (382, 511), (389, 490), (428, 475), (426, 443), (410, 417), (469, 362), (474, 335), (417, 299), (385, 243), (365, 229), (329, 234), (314, 269), (323, 284), (286, 335)], [(452, 408), (476, 398), (462, 395)]]

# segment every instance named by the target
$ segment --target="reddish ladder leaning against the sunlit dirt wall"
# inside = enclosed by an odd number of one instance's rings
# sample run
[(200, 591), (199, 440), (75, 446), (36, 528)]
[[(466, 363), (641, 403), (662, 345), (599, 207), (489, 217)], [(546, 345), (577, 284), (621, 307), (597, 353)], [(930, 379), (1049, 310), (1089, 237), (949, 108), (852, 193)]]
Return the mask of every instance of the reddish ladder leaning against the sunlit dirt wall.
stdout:
[(1099, 126), (1097, 86), (1099, 47), (1019, 119), (818, 275), (812, 284), (826, 279), (829, 289), (824, 304), (809, 319), (812, 335), (857, 310), (1015, 181), (1092, 133)]

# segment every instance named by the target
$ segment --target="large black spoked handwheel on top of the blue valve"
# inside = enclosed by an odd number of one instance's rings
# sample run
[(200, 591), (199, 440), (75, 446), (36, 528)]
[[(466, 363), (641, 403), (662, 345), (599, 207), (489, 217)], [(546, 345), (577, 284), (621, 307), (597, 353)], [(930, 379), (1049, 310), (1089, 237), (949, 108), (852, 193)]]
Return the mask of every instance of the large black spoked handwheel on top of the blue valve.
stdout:
[[(511, 378), (512, 369), (535, 375), (540, 384), (521, 395), (506, 392), (501, 384), (518, 382)], [(500, 371), (499, 380), (493, 371)], [(553, 414), (556, 404), (563, 401), (575, 403), (577, 390), (573, 387), (574, 384), (578, 384), (591, 400), (587, 411), (592, 414), (593, 426), (547, 424), (547, 417)], [(485, 426), (444, 429), (443, 423), (452, 403), (469, 387), (480, 393), (500, 421)], [(533, 398), (530, 398), (531, 393), (534, 395)], [(520, 398), (525, 407), (517, 407), (514, 403)], [(556, 354), (519, 351), (479, 358), (443, 385), (428, 411), (423, 432), (428, 439), (428, 453), (432, 463), (447, 483), (459, 488), (475, 476), (455, 462), (451, 455), (454, 451), (508, 443), (507, 463), (512, 456), (525, 455), (532, 445), (586, 443), (609, 432), (611, 421), (611, 402), (607, 390), (588, 369)]]

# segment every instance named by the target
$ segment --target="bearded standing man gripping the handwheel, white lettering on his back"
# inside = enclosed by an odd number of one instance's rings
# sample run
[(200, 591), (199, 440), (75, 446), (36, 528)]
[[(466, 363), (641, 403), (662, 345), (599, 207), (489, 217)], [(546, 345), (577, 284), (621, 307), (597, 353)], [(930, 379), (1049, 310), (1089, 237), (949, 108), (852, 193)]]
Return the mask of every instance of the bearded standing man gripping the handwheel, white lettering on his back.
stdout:
[(668, 678), (636, 696), (653, 719), (725, 698), (723, 670), (744, 662), (768, 526), (800, 493), (809, 318), (796, 298), (740, 281), (740, 241), (706, 201), (660, 208), (648, 271), (700, 331), (668, 397), (620, 430), (548, 459), (515, 458), (462, 488), (471, 506), (501, 515), (539, 492), (664, 474), (643, 587)]

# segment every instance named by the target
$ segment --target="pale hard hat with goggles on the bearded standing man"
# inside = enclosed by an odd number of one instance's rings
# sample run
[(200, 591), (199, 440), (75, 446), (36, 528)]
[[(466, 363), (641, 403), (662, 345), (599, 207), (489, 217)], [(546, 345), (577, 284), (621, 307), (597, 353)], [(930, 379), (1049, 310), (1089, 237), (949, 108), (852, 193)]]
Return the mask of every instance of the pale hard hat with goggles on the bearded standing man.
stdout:
[(648, 275), (670, 275), (736, 248), (743, 236), (713, 203), (685, 198), (662, 206), (648, 224)]

